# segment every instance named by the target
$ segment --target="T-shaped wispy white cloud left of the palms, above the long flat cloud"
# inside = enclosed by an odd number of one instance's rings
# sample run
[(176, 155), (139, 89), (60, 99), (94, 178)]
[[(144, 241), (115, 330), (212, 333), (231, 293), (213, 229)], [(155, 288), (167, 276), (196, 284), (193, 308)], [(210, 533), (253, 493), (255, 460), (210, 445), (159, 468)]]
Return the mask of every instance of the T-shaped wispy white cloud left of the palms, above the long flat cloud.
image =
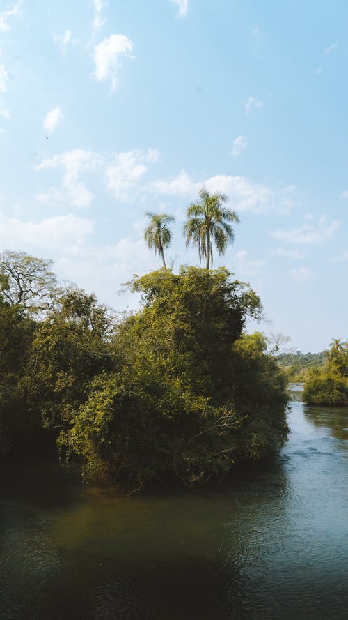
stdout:
[(101, 162), (102, 158), (98, 153), (84, 151), (82, 149), (73, 149), (72, 151), (67, 151), (61, 155), (54, 155), (50, 159), (43, 160), (36, 169), (43, 170), (46, 168), (63, 166), (65, 168), (63, 186), (68, 192), (68, 198), (71, 204), (84, 207), (92, 202), (94, 195), (86, 187), (85, 183), (79, 181), (78, 176), (80, 172), (93, 169), (100, 165)]

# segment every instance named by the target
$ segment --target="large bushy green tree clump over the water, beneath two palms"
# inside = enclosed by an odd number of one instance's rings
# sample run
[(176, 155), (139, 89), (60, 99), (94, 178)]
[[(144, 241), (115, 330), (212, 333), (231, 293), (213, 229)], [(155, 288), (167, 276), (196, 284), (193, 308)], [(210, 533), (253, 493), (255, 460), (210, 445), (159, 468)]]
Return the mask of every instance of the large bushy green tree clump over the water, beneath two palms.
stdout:
[(139, 488), (175, 476), (219, 479), (287, 433), (285, 377), (262, 335), (244, 338), (260, 299), (226, 269), (160, 269), (133, 281), (143, 308), (113, 340), (115, 370), (89, 384), (60, 445), (84, 475)]

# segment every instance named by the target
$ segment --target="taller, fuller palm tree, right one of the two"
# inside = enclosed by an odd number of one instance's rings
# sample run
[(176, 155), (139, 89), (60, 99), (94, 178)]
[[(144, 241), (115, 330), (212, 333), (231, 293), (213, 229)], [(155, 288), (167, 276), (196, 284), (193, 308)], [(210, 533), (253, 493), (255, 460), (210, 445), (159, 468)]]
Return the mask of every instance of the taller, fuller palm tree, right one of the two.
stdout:
[(186, 235), (186, 247), (190, 241), (198, 245), (200, 261), (206, 259), (206, 267), (209, 269), (213, 263), (212, 241), (215, 242), (219, 255), (223, 255), (228, 243), (233, 243), (235, 234), (231, 223), (239, 222), (239, 217), (232, 209), (226, 209), (223, 202), (227, 196), (209, 194), (205, 188), (199, 192), (198, 202), (191, 202), (187, 209), (187, 222), (184, 225)]

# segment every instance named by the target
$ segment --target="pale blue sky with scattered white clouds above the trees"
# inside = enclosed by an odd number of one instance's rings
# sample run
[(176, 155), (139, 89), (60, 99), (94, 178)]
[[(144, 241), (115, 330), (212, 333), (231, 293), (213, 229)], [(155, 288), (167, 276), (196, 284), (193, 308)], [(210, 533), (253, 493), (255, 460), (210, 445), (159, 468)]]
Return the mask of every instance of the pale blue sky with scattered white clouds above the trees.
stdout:
[(204, 186), (239, 214), (213, 266), (260, 294), (250, 328), (347, 340), (347, 34), (344, 0), (0, 0), (0, 250), (132, 309), (145, 213), (199, 264)]

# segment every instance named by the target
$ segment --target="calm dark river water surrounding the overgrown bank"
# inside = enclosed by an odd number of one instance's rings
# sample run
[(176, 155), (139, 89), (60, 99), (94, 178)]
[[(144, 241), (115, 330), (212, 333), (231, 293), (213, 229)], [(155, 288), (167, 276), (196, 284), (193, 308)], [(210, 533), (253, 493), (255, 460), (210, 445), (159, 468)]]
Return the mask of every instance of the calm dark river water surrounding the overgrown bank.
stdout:
[(292, 386), (276, 462), (218, 490), (123, 497), (2, 465), (1, 620), (347, 620), (348, 409)]

